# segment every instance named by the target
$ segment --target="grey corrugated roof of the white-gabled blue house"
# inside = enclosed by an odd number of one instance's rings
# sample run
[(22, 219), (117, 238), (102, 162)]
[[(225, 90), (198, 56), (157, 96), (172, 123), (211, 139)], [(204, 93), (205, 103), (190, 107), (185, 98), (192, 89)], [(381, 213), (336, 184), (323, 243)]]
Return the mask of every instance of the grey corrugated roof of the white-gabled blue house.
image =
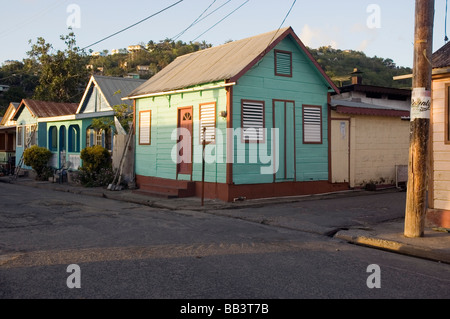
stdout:
[[(130, 101), (122, 101), (122, 98), (126, 97), (133, 90), (146, 82), (146, 80), (141, 79), (119, 78), (100, 75), (94, 75), (93, 79), (100, 87), (100, 90), (104, 94), (105, 99), (108, 101), (111, 107), (123, 103), (131, 105), (132, 103)], [(119, 90), (120, 93), (115, 94)]]

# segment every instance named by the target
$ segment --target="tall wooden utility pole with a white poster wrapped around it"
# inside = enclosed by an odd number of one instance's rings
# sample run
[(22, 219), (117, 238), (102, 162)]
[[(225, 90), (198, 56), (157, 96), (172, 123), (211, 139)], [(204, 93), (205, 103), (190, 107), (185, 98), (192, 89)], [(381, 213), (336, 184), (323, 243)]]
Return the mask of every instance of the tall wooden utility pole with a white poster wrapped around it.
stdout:
[(425, 228), (433, 24), (434, 0), (416, 0), (406, 237), (423, 237)]

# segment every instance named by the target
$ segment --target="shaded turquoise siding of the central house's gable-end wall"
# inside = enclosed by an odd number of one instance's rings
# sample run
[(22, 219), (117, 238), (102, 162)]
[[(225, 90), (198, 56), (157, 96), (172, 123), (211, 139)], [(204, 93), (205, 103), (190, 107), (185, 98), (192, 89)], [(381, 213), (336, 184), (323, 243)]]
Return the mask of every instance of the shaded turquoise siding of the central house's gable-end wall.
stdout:
[[(289, 37), (281, 41), (275, 50), (292, 52), (292, 77), (276, 76), (274, 72), (275, 53), (269, 52), (264, 59), (243, 75), (233, 88), (233, 127), (241, 125), (241, 101), (258, 100), (265, 103), (265, 128), (271, 129), (273, 123), (273, 101), (293, 101), (295, 103), (295, 167), (296, 181), (328, 180), (328, 110), (327, 85), (319, 71)], [(302, 105), (322, 107), (321, 144), (303, 143)], [(284, 128), (282, 128), (284, 130)], [(265, 138), (267, 154), (272, 154), (270, 130)], [(249, 143), (237, 141), (234, 147), (233, 181), (235, 184), (272, 183), (274, 176), (261, 174), (261, 167), (269, 164), (237, 163), (236, 154), (248, 154)]]

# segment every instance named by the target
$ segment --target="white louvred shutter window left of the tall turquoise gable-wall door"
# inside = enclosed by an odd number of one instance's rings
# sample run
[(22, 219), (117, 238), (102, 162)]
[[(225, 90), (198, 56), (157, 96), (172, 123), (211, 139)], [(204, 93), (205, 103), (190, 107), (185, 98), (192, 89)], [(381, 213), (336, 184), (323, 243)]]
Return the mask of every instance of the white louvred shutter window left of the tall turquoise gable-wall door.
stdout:
[(264, 140), (264, 102), (242, 102), (242, 137), (246, 142)]

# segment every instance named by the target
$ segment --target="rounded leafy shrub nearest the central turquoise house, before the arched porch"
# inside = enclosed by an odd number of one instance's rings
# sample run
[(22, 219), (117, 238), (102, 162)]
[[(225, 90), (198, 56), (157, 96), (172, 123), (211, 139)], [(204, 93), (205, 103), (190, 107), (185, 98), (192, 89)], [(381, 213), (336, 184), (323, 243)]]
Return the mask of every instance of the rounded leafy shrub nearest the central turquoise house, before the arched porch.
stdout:
[(81, 151), (83, 167), (80, 168), (77, 181), (85, 187), (106, 186), (114, 180), (111, 154), (99, 145), (87, 147)]

